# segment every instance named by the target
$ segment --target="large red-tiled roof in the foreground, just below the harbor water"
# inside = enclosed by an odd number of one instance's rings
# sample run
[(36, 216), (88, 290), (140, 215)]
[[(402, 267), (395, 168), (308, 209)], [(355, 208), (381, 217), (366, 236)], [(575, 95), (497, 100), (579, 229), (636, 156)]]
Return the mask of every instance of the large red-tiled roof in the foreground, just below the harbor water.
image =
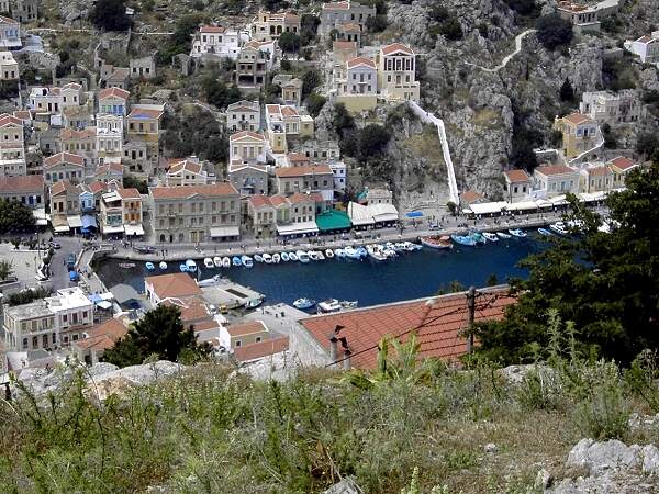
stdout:
[[(507, 289), (480, 291), (476, 302), (476, 322), (499, 319), (507, 305), (515, 302)], [(467, 327), (467, 294), (455, 293), (431, 299), (347, 311), (338, 314), (309, 317), (302, 326), (330, 352), (330, 335), (337, 325), (344, 326), (345, 337), (353, 352), (355, 368), (376, 367), (377, 345), (383, 336), (405, 341), (412, 330), (421, 345), (420, 359), (435, 357), (456, 360), (467, 352), (467, 340), (461, 332)], [(342, 357), (340, 344), (338, 358)]]

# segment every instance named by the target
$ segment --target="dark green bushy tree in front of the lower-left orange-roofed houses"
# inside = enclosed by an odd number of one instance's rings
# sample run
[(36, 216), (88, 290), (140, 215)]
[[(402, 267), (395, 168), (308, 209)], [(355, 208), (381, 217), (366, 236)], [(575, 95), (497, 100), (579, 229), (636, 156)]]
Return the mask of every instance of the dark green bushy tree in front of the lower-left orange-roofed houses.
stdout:
[(147, 357), (176, 362), (185, 350), (208, 355), (208, 345), (199, 345), (194, 330), (183, 327), (176, 305), (158, 305), (137, 321), (113, 348), (107, 350), (103, 360), (119, 367), (144, 362)]

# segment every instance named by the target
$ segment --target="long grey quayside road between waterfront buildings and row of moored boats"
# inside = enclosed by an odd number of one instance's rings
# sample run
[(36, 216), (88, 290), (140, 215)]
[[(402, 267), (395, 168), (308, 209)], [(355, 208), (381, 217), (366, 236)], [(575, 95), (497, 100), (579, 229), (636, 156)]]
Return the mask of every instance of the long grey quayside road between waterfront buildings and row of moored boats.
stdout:
[[(597, 210), (604, 213), (604, 209)], [(402, 239), (415, 240), (425, 235), (450, 235), (465, 232), (467, 228), (478, 231), (505, 231), (509, 228), (530, 228), (544, 226), (560, 220), (563, 212), (546, 212), (534, 214), (518, 214), (515, 216), (498, 216), (484, 218), (466, 218), (463, 216), (454, 217), (450, 215), (435, 217), (435, 224), (431, 227), (429, 222), (433, 218), (424, 218), (416, 225), (405, 225), (404, 228), (380, 228), (361, 232), (350, 232), (349, 234), (320, 235), (315, 237), (295, 238), (282, 242), (279, 238), (256, 239), (245, 238), (239, 242), (204, 243), (204, 244), (148, 244), (146, 242), (135, 242), (132, 245), (122, 242), (114, 242), (116, 248), (113, 257), (120, 257), (133, 260), (182, 260), (199, 259), (201, 257), (214, 256), (235, 256), (242, 254), (254, 254), (260, 251), (282, 251), (319, 248), (339, 248), (346, 245), (368, 244), (378, 242), (400, 242)], [(133, 247), (153, 245), (156, 248), (154, 254), (138, 254)], [(90, 256), (85, 256), (90, 257)], [(86, 263), (81, 262), (85, 267)]]

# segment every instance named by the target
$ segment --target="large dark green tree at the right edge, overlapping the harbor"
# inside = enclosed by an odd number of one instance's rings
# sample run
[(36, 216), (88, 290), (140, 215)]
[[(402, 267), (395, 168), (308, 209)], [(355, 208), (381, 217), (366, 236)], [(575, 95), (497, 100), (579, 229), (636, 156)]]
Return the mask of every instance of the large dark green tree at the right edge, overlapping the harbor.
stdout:
[(515, 280), (517, 303), (499, 322), (477, 325), (480, 352), (504, 363), (547, 352), (547, 318), (555, 310), (571, 322), (585, 356), (630, 362), (659, 345), (659, 164), (634, 170), (627, 189), (610, 194), (611, 233), (602, 218), (571, 197), (572, 217), (583, 221), (579, 240), (557, 242), (522, 262), (526, 280)]

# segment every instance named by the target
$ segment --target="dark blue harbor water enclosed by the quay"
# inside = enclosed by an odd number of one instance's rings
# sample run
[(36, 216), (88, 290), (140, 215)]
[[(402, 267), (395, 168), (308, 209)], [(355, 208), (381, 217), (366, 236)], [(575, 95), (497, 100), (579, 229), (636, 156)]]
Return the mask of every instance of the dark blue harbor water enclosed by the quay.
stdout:
[[(358, 301), (359, 306), (365, 307), (432, 296), (447, 289), (453, 281), (478, 288), (484, 287), (492, 274), (499, 283), (512, 277), (524, 278), (527, 272), (517, 267), (517, 262), (544, 246), (545, 243), (529, 236), (476, 247), (455, 245), (450, 250), (423, 248), (401, 252), (386, 261), (334, 258), (308, 263), (255, 262), (250, 269), (205, 269), (203, 258), (196, 261), (200, 280), (221, 274), (265, 294), (268, 304), (290, 304), (297, 299), (309, 297)], [(155, 271), (148, 271), (144, 262), (135, 262), (134, 268), (120, 268), (121, 262), (120, 259), (105, 259), (99, 262), (96, 271), (109, 289), (127, 283), (139, 292), (144, 291), (145, 277), (179, 272), (180, 263), (170, 262), (167, 270), (159, 270), (155, 262)]]

